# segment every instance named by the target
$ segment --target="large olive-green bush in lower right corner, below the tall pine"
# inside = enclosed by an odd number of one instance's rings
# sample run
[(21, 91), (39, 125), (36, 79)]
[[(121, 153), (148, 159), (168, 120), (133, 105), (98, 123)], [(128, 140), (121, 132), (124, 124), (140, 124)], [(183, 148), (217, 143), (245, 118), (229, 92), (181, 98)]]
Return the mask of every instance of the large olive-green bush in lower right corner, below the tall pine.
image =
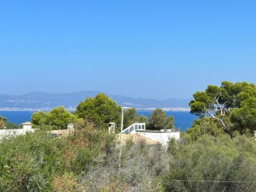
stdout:
[(183, 140), (170, 152), (166, 191), (255, 191), (255, 140), (206, 135), (196, 142)]

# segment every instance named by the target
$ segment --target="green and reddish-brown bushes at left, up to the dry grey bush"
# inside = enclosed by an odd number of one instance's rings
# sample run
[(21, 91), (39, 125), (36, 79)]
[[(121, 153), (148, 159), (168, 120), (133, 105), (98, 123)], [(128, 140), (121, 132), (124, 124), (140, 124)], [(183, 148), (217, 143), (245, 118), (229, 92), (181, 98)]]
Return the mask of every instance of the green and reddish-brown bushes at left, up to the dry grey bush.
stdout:
[(114, 142), (113, 138), (84, 127), (68, 137), (53, 138), (38, 130), (4, 139), (0, 144), (0, 191), (83, 191), (79, 176), (102, 164), (97, 156), (110, 151), (108, 142)]

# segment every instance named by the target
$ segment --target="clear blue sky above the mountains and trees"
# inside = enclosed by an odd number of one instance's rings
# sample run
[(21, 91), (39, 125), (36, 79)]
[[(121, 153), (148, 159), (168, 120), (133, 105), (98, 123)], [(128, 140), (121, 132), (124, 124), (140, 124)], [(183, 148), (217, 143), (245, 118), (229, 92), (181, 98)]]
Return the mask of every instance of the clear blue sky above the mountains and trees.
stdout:
[(256, 83), (256, 1), (1, 1), (0, 94), (190, 98)]

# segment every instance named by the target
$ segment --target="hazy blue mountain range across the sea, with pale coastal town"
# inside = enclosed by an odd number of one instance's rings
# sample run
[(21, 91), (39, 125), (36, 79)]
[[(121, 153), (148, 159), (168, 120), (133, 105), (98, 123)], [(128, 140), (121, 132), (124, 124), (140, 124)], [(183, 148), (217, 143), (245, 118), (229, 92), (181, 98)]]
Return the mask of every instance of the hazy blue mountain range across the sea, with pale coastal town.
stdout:
[[(98, 91), (81, 91), (72, 93), (48, 93), (48, 92), (29, 92), (25, 95), (0, 95), (0, 110), (4, 108), (18, 109), (40, 109), (50, 110), (53, 107), (65, 106), (72, 110), (79, 102), (84, 101), (86, 97), (95, 97)], [(122, 95), (109, 95), (117, 105), (124, 107), (146, 108), (188, 108), (189, 100), (169, 99), (154, 100), (144, 98), (124, 97)]]

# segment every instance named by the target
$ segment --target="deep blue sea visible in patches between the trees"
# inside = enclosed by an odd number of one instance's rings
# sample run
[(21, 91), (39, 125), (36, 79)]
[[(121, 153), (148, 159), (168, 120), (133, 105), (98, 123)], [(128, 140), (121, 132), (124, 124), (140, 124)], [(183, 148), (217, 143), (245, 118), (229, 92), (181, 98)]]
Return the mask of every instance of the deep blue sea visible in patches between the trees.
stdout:
[[(149, 114), (151, 112), (137, 112), (137, 114), (144, 114), (149, 119)], [(8, 122), (21, 124), (23, 122), (30, 122), (33, 112), (20, 112), (20, 111), (9, 111), (3, 112), (0, 111), (2, 117), (7, 117)], [(174, 116), (174, 127), (181, 128), (181, 132), (184, 132), (186, 129), (191, 127), (193, 119), (196, 119), (196, 116), (190, 114), (189, 112), (166, 112), (166, 116)]]

